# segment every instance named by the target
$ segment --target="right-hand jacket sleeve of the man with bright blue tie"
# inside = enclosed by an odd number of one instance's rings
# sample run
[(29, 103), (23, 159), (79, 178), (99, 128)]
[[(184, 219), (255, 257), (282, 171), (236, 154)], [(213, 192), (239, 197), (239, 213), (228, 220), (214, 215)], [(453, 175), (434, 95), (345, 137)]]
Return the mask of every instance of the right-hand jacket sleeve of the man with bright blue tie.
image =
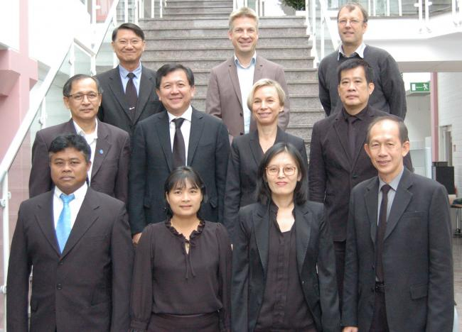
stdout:
[(129, 303), (133, 245), (125, 206), (119, 211), (111, 235), (112, 319), (111, 332), (126, 332), (130, 324)]

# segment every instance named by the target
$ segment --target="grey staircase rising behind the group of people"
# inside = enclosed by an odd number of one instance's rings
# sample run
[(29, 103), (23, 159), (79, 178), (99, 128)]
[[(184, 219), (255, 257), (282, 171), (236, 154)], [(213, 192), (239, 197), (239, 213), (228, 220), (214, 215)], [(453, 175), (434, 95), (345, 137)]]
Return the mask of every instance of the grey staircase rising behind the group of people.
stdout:
[[(167, 62), (190, 67), (196, 89), (192, 104), (205, 111), (210, 70), (233, 55), (227, 38), (232, 1), (169, 0), (167, 5), (163, 18), (140, 21), (146, 35), (143, 64), (153, 70)], [(307, 147), (313, 123), (324, 116), (310, 48), (304, 18), (260, 18), (257, 53), (284, 67), (291, 102), (287, 131), (303, 138)]]

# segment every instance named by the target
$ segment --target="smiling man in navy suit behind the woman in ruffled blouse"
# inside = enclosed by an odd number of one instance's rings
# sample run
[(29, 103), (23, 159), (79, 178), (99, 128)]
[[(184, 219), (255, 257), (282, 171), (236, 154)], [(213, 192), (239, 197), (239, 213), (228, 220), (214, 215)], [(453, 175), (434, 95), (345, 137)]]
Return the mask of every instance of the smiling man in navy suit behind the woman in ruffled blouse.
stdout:
[(149, 223), (166, 219), (163, 184), (172, 170), (188, 165), (202, 177), (208, 202), (201, 214), (222, 221), (230, 143), (219, 119), (193, 109), (194, 76), (188, 67), (163, 65), (157, 71), (156, 92), (166, 111), (136, 127), (130, 164), (129, 216), (137, 243)]

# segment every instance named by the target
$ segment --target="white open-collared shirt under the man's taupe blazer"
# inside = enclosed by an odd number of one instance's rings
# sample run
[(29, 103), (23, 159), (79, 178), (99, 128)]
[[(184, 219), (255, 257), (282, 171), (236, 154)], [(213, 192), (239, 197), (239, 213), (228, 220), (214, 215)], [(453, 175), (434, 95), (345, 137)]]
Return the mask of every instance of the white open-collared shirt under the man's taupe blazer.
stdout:
[(244, 133), (250, 131), (250, 120), (252, 118), (252, 111), (247, 107), (247, 97), (249, 96), (252, 87), (254, 86), (254, 72), (255, 72), (255, 61), (257, 59), (257, 52), (254, 53), (250, 65), (244, 67), (239, 62), (235, 55), (235, 63), (237, 69), (237, 78), (239, 79), (239, 87), (241, 89), (242, 99), (242, 114), (244, 115)]

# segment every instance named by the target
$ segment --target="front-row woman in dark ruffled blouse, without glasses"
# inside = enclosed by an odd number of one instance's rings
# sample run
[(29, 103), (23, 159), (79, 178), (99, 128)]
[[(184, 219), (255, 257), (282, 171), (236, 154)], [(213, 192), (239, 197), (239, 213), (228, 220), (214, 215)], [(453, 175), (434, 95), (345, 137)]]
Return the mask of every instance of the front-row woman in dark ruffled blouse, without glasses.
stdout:
[(203, 221), (205, 186), (191, 167), (165, 182), (169, 218), (144, 228), (136, 247), (131, 331), (230, 331), (231, 245)]

